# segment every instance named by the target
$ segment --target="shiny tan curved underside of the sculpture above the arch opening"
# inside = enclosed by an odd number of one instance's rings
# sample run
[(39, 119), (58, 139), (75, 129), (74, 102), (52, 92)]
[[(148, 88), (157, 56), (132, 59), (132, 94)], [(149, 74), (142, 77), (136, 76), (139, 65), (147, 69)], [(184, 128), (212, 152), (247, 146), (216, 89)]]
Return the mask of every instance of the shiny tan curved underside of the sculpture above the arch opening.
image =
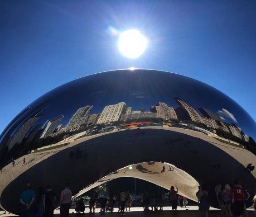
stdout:
[(143, 179), (150, 183), (159, 185), (164, 189), (170, 189), (171, 186), (176, 186), (180, 195), (193, 201), (197, 201), (196, 192), (198, 191), (199, 186), (197, 180), (184, 170), (163, 162), (141, 162), (138, 164), (128, 165), (97, 180), (93, 184), (82, 189), (73, 198), (76, 198), (105, 182), (122, 177)]

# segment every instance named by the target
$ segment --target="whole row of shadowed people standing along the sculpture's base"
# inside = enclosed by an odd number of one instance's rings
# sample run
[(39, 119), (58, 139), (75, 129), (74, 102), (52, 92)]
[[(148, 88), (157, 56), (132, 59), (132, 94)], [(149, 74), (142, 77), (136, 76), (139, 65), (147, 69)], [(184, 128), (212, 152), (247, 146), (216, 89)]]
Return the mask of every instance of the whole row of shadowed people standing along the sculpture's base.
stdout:
[[(210, 191), (213, 192), (213, 191)], [(173, 212), (177, 212), (177, 207), (187, 208), (188, 199), (179, 195), (177, 186), (171, 186), (169, 193), (166, 193), (159, 186), (146, 186), (143, 193), (135, 201), (132, 195), (125, 189), (119, 193), (110, 192), (107, 196), (99, 194), (92, 189), (89, 194), (89, 213), (95, 214), (95, 208), (100, 208), (100, 213), (114, 212), (114, 207), (118, 208), (121, 215), (130, 211), (132, 203), (140, 204), (144, 212), (163, 211), (163, 207), (171, 203)], [(217, 184), (215, 189), (216, 204), (220, 208), (219, 217), (248, 217), (246, 210), (246, 200), (250, 194), (242, 187), (242, 184), (235, 180), (233, 184)], [(213, 196), (213, 195), (212, 195)], [(202, 217), (208, 217), (210, 205), (208, 203), (209, 193), (206, 185), (198, 187), (196, 193), (198, 198), (198, 210)], [(50, 185), (39, 187), (37, 192), (32, 189), (31, 183), (26, 184), (26, 189), (20, 196), (22, 205), (22, 217), (53, 217), (55, 208), (60, 208), (60, 217), (69, 217), (70, 208), (74, 208), (76, 214), (85, 213), (84, 199), (75, 198), (72, 200), (72, 191), (70, 185), (66, 184), (60, 194), (60, 200), (57, 203), (56, 194)], [(256, 209), (256, 196), (253, 199), (253, 207)]]

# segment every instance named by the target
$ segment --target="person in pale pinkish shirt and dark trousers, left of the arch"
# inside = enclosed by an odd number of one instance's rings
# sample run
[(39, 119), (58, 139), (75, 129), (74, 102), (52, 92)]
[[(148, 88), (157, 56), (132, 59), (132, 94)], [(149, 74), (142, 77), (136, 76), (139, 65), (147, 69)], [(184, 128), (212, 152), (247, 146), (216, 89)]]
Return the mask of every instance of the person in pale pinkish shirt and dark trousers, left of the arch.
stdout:
[(71, 204), (72, 191), (69, 184), (65, 185), (65, 189), (60, 194), (60, 217), (69, 216), (69, 208)]

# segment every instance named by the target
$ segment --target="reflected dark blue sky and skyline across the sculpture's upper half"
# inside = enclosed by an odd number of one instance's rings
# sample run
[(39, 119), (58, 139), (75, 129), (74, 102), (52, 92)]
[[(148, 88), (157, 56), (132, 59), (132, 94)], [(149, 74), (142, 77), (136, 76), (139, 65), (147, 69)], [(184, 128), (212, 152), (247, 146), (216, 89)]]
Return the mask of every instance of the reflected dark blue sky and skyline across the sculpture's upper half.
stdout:
[[(203, 127), (203, 132), (226, 139), (235, 136), (248, 142), (255, 134), (255, 122), (239, 105), (200, 81), (169, 72), (120, 70), (89, 75), (44, 94), (7, 127), (0, 146), (8, 145), (10, 150), (14, 144), (39, 141), (30, 146), (33, 150), (95, 125), (143, 119), (154, 123), (157, 118), (157, 123), (162, 120), (175, 125), (176, 119), (187, 127)], [(99, 127), (97, 130), (100, 132)], [(63, 137), (40, 142), (60, 134)]]

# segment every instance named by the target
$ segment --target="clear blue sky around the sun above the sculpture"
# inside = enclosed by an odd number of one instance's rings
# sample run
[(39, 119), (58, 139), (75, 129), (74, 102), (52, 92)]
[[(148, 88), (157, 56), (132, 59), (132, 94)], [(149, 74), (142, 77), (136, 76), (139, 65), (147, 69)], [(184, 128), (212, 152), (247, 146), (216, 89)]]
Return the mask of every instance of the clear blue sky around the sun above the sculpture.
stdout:
[[(42, 94), (85, 75), (150, 68), (203, 81), (256, 120), (256, 1), (0, 1), (0, 132)], [(109, 31), (149, 40), (123, 57)]]

